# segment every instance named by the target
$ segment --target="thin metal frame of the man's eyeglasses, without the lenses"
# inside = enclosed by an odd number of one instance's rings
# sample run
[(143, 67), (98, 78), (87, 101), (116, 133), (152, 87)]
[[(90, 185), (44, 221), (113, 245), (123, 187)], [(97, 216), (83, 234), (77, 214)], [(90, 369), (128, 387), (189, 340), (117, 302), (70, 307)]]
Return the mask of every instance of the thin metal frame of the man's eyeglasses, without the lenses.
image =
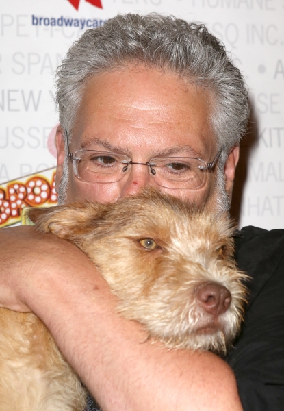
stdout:
[[(79, 158), (75, 158), (74, 157), (74, 154), (73, 153), (70, 153), (70, 151), (69, 151), (69, 142), (68, 142), (68, 133), (67, 132), (65, 132), (65, 134), (66, 134), (66, 140), (67, 140), (67, 155), (68, 155), (68, 160), (71, 160), (71, 161), (76, 161), (76, 160), (80, 160)], [(211, 161), (211, 162), (208, 162), (208, 163), (206, 163), (206, 165), (205, 166), (198, 166), (198, 169), (201, 169), (201, 170), (211, 170), (211, 169), (213, 169), (214, 168), (214, 166), (215, 166), (215, 164), (216, 164), (216, 162), (217, 162), (217, 160), (218, 160), (218, 158), (219, 158), (219, 156), (220, 156), (220, 154), (222, 153), (222, 150), (223, 150), (223, 147), (221, 147), (220, 149), (219, 149), (219, 151), (218, 151), (218, 153), (216, 154), (216, 156), (214, 157), (214, 159)], [(77, 150), (77, 151), (75, 151), (75, 154), (76, 153), (78, 153), (79, 151), (93, 151), (94, 153), (105, 153), (105, 154), (114, 154), (114, 155), (117, 155), (117, 153), (112, 153), (112, 152), (110, 152), (110, 151), (99, 151), (99, 150), (88, 150), (88, 149), (81, 149), (81, 150)], [(127, 155), (125, 155), (125, 157), (128, 157)], [(205, 160), (202, 160), (201, 158), (198, 158), (198, 157), (168, 157), (168, 158), (172, 158), (172, 159), (177, 159), (177, 158), (188, 158), (188, 159), (190, 159), (190, 158), (192, 158), (192, 159), (194, 159), (194, 160), (199, 160), (199, 161), (201, 161), (201, 162), (205, 162)], [(151, 159), (151, 160), (153, 160), (153, 159)], [(130, 160), (130, 161), (122, 161), (121, 162), (121, 164), (127, 164), (126, 166), (124, 166), (124, 167), (122, 167), (122, 172), (125, 172), (125, 171), (127, 171), (127, 168), (128, 168), (128, 166), (129, 166), (129, 164), (138, 164), (138, 165), (141, 165), (141, 166), (148, 166), (149, 168), (150, 168), (150, 170), (151, 170), (151, 174), (152, 175), (155, 175), (156, 174), (156, 171), (154, 170), (154, 169), (152, 169), (152, 166), (155, 166), (155, 164), (151, 164), (151, 160), (150, 160), (150, 162), (146, 162), (146, 163), (140, 163), (140, 162), (133, 162), (132, 160)], [(74, 171), (74, 167), (73, 167), (73, 171)], [(74, 173), (75, 173), (75, 171), (74, 171)], [(75, 173), (75, 175), (76, 175), (76, 177), (78, 177), (79, 178), (79, 176)], [(123, 176), (122, 176), (123, 177)], [(121, 177), (121, 178), (122, 178)], [(80, 177), (80, 179), (81, 179), (81, 177)], [(82, 181), (85, 181), (85, 182), (88, 182), (87, 180), (84, 180), (84, 179), (81, 179)], [(120, 181), (120, 180), (118, 180), (118, 181)], [(108, 182), (90, 182), (90, 183), (96, 183), (96, 184), (111, 184), (111, 183), (108, 183)], [(200, 186), (199, 186), (200, 187)], [(196, 187), (196, 188), (186, 188), (187, 190), (196, 190), (197, 188), (199, 188), (199, 187)], [(172, 188), (172, 189), (174, 189), (174, 188)], [(184, 188), (183, 188), (184, 189)]]

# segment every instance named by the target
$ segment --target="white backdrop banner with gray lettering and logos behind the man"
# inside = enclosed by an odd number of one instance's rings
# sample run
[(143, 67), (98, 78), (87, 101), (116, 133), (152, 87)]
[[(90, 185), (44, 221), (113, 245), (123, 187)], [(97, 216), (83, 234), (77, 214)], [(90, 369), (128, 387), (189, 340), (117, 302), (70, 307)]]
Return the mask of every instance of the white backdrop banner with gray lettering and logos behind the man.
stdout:
[(2, 0), (0, 226), (55, 203), (55, 69), (86, 29), (118, 12), (200, 21), (224, 42), (252, 108), (232, 214), (241, 227), (284, 227), (284, 0)]

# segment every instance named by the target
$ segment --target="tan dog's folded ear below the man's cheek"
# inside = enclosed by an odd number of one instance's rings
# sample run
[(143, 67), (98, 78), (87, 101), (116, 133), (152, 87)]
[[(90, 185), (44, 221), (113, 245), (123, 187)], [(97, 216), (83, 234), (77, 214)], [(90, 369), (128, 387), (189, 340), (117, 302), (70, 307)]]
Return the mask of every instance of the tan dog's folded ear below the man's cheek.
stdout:
[(90, 220), (99, 218), (105, 206), (99, 203), (74, 203), (68, 206), (31, 208), (29, 219), (38, 231), (69, 239), (84, 231)]

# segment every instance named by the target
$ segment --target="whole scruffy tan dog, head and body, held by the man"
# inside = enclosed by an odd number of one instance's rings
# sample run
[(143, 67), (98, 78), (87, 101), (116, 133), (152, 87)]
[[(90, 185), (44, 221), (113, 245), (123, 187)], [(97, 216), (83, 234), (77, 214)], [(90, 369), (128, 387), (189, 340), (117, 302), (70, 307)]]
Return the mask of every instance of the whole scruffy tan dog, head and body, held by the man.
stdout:
[[(246, 290), (227, 214), (145, 190), (117, 203), (34, 209), (41, 232), (74, 242), (117, 295), (119, 312), (170, 348), (224, 352)], [(79, 379), (34, 314), (0, 309), (1, 411), (82, 411)]]

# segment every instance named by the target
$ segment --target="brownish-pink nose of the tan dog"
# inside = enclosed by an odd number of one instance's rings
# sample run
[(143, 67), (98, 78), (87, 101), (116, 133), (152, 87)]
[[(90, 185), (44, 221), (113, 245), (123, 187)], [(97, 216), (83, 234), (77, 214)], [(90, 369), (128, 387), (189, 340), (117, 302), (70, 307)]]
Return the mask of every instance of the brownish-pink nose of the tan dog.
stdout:
[(205, 283), (196, 290), (198, 302), (214, 317), (226, 312), (231, 304), (229, 290), (216, 283)]

